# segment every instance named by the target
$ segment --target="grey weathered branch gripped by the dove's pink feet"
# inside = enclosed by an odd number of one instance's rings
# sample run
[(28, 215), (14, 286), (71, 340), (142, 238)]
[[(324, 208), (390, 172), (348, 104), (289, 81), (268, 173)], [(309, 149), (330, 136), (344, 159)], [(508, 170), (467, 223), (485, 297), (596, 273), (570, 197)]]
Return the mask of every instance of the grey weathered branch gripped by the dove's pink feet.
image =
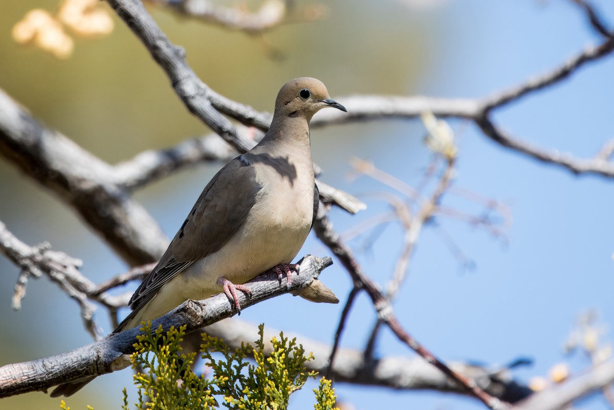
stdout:
[[(247, 297), (239, 292), (243, 308), (255, 303), (291, 292), (298, 294), (305, 289), (321, 271), (332, 264), (330, 257), (306, 256), (300, 262), (300, 274), (292, 278), (292, 284), (284, 279), (279, 283), (277, 273), (267, 272), (252, 279), (247, 286), (252, 292)], [(161, 325), (168, 330), (171, 326), (187, 325), (186, 332), (195, 332), (236, 314), (225, 294), (218, 294), (202, 301), (188, 300), (165, 316), (152, 321), (152, 327)], [(14, 363), (0, 367), (0, 398), (20, 393), (45, 391), (54, 385), (76, 381), (88, 376), (99, 376), (120, 370), (128, 365), (123, 355), (133, 352), (138, 328), (121, 333), (112, 333), (102, 340), (80, 347), (74, 351), (25, 363)]]

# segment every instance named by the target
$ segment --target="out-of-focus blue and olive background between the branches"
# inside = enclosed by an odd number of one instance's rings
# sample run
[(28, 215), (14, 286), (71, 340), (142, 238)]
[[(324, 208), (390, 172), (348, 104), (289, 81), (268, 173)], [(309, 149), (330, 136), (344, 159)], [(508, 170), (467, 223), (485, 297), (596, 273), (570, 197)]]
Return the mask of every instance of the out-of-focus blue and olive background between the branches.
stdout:
[[(220, 2), (227, 4), (227, 2)], [(243, 4), (238, 1), (235, 4)], [(260, 2), (249, 2), (251, 7)], [(324, 4), (327, 17), (283, 25), (265, 37), (207, 25), (171, 10), (149, 6), (174, 44), (204, 83), (230, 99), (271, 112), (287, 80), (321, 79), (343, 104), (351, 94), (481, 97), (525, 82), (558, 67), (599, 37), (572, 1), (522, 0), (337, 0), (300, 1), (297, 7)], [(613, 21), (614, 3), (593, 1)], [(56, 59), (39, 48), (14, 42), (11, 30), (31, 9), (53, 12), (57, 0), (5, 2), (0, 13), (0, 88), (27, 107), (46, 126), (57, 129), (105, 161), (130, 159), (147, 149), (173, 146), (209, 130), (185, 110), (168, 78), (126, 26), (99, 39), (75, 39), (72, 56)], [(109, 9), (106, 4), (106, 9)], [(614, 60), (590, 63), (570, 79), (497, 110), (494, 120), (513, 135), (538, 145), (586, 158), (614, 137)], [(584, 355), (565, 355), (564, 346), (578, 317), (598, 314), (608, 346), (614, 323), (614, 181), (575, 177), (569, 172), (513, 153), (486, 139), (472, 124), (450, 120), (457, 136), (456, 187), (505, 203), (513, 223), (495, 238), (462, 221), (437, 218), (458, 252), (435, 224), (426, 227), (411, 270), (395, 303), (402, 325), (445, 360), (503, 365), (518, 357), (534, 365), (515, 370), (527, 383), (548, 378), (557, 363), (572, 374), (591, 363)], [(422, 143), (419, 120), (382, 120), (331, 126), (312, 132), (314, 161), (322, 180), (360, 197), (368, 210), (356, 216), (333, 210), (335, 228), (347, 232), (388, 209), (367, 195), (389, 190), (367, 177), (349, 178), (349, 159), (373, 162), (408, 184), (422, 180), (432, 153)], [(172, 237), (203, 186), (220, 163), (177, 173), (138, 191), (136, 198)], [(53, 249), (84, 260), (82, 271), (96, 283), (126, 270), (119, 257), (48, 191), (12, 165), (0, 161), (0, 220), (29, 245), (49, 241)], [(479, 212), (458, 196), (448, 207)], [(473, 207), (473, 208), (472, 208)], [(367, 235), (368, 233), (365, 233)], [(402, 230), (389, 226), (365, 246), (365, 235), (351, 241), (365, 272), (385, 285), (400, 253)], [(303, 254), (330, 252), (310, 236)], [(470, 260), (471, 263), (465, 263)], [(20, 311), (10, 300), (18, 268), (0, 259), (0, 363), (58, 354), (90, 343), (79, 309), (47, 279), (31, 281)], [(322, 279), (340, 305), (314, 305), (290, 295), (246, 309), (242, 319), (332, 343), (351, 281), (340, 264)], [(134, 290), (136, 284), (122, 291)], [(125, 314), (126, 311), (123, 312)], [(96, 316), (112, 330), (106, 313)], [(365, 319), (366, 318), (366, 319)], [(375, 312), (362, 294), (341, 345), (362, 349)], [(254, 335), (254, 340), (257, 335)], [(299, 340), (300, 341), (300, 340)], [(384, 329), (377, 355), (413, 356)], [(96, 379), (69, 398), (73, 409), (119, 408), (123, 387), (135, 400), (130, 370)], [(292, 408), (313, 408), (315, 383), (293, 396)], [(473, 398), (437, 392), (406, 392), (336, 384), (338, 400), (356, 409), (480, 409)], [(29, 393), (1, 401), (6, 409), (58, 408), (59, 400)], [(606, 409), (603, 398), (581, 408)]]

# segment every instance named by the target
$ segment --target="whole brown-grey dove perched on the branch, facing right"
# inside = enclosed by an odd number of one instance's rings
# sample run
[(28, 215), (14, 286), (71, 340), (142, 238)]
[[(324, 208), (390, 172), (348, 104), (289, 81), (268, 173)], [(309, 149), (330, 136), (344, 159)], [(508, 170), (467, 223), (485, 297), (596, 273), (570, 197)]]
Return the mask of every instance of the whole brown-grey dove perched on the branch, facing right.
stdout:
[[(295, 78), (282, 86), (266, 135), (209, 181), (158, 265), (134, 292), (133, 311), (115, 333), (222, 290), (240, 309), (237, 290), (248, 292), (243, 284), (271, 268), (290, 281), (297, 266), (292, 259), (316, 219), (309, 121), (325, 107), (347, 112), (315, 78)], [(51, 396), (72, 395), (91, 379), (62, 384)]]

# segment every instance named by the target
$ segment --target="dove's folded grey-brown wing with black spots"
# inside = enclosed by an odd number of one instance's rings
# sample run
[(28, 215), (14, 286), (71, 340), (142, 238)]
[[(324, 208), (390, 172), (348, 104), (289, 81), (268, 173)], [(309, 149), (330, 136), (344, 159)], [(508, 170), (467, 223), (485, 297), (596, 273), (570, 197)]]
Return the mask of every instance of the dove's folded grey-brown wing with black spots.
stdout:
[(262, 186), (254, 167), (237, 157), (204, 188), (158, 265), (130, 299), (137, 311), (163, 284), (197, 260), (218, 251), (246, 219)]

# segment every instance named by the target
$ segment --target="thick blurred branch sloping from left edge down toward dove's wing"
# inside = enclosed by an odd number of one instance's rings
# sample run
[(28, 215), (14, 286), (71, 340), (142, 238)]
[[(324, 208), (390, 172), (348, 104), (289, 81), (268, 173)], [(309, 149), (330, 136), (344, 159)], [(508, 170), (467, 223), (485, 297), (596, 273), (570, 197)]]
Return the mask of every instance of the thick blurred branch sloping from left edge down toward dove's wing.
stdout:
[(165, 251), (157, 222), (118, 188), (109, 164), (42, 127), (2, 90), (0, 154), (60, 196), (128, 263), (153, 262)]

